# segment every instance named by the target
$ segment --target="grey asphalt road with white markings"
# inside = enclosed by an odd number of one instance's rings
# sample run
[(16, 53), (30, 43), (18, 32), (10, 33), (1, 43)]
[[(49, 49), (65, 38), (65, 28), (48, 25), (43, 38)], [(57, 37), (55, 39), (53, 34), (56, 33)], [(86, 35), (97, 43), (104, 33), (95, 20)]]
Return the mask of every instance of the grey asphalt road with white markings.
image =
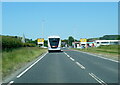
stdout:
[(9, 82), (14, 83), (118, 85), (118, 62), (64, 48), (45, 54)]

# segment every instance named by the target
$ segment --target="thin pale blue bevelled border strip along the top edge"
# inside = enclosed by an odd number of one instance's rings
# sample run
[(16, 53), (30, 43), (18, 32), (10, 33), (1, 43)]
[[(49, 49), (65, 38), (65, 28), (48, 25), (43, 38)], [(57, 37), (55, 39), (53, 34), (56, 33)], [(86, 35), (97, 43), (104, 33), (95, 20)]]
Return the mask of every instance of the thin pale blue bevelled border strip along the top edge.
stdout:
[(2, 2), (119, 2), (120, 0), (1, 0)]

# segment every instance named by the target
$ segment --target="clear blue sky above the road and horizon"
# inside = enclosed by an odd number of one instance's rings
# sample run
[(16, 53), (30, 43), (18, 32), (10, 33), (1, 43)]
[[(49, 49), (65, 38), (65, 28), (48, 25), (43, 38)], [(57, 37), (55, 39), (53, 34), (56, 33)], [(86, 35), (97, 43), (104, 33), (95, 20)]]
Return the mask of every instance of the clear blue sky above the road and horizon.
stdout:
[(37, 39), (118, 34), (117, 2), (3, 2), (2, 34)]

